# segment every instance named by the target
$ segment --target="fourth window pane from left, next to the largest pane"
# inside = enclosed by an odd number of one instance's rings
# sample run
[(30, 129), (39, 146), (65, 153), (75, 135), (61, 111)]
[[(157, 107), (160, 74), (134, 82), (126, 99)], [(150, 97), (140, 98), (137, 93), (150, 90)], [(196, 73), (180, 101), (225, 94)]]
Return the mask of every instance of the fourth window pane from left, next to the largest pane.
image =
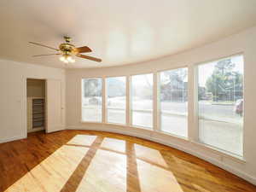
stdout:
[(188, 69), (160, 73), (160, 127), (180, 137), (188, 137)]

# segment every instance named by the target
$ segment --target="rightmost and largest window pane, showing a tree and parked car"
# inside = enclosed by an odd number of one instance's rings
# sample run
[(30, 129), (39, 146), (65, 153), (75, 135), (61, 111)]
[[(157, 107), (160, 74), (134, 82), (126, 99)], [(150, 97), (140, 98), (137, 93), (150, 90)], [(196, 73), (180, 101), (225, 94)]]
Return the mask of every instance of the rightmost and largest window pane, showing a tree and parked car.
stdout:
[(243, 57), (200, 65), (198, 75), (201, 142), (242, 155)]

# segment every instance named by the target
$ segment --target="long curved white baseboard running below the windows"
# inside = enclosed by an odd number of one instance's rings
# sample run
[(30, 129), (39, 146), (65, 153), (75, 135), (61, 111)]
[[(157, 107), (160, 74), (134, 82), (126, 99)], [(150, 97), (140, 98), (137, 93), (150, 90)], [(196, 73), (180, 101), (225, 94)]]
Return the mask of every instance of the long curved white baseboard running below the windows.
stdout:
[(143, 139), (147, 139), (149, 141), (153, 141), (153, 142), (156, 142), (156, 143), (161, 143), (161, 144), (164, 144), (164, 145), (172, 147), (172, 148), (177, 148), (178, 150), (181, 150), (185, 153), (192, 154), (192, 155), (194, 155), (194, 156), (196, 156), (196, 157), (198, 157), (202, 160), (206, 160), (207, 162), (210, 162), (213, 165), (218, 166), (218, 167), (226, 170), (227, 172), (231, 172), (234, 175), (247, 180), (247, 182), (253, 183), (254, 185), (256, 185), (256, 177), (253, 177), (253, 176), (247, 174), (246, 172), (242, 172), (241, 170), (238, 170), (238, 169), (233, 168), (229, 165), (226, 165), (226, 164), (224, 164), (223, 162), (221, 162), (219, 160), (209, 158), (205, 154), (198, 153), (195, 150), (191, 150), (189, 148), (184, 148), (183, 146), (177, 145), (176, 143), (166, 143), (166, 141), (160, 140), (158, 138), (139, 135), (137, 133), (135, 134), (134, 132), (131, 132), (131, 131), (112, 130), (112, 129), (108, 129), (106, 127), (91, 129), (91, 128), (88, 128), (88, 127), (85, 127), (85, 126), (69, 125), (69, 126), (67, 126), (67, 130), (109, 131), (109, 132), (119, 133), (119, 134), (128, 135), (128, 136), (132, 136), (132, 137), (140, 137), (140, 138), (143, 138)]

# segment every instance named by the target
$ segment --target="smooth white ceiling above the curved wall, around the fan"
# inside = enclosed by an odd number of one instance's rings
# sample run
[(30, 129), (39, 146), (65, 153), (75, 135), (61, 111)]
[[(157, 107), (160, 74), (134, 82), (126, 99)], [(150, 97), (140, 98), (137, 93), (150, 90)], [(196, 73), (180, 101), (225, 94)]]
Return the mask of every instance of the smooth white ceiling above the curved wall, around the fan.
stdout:
[(63, 36), (102, 63), (78, 58), (68, 67), (108, 67), (195, 48), (256, 25), (255, 0), (1, 0), (0, 58), (65, 67), (51, 49)]

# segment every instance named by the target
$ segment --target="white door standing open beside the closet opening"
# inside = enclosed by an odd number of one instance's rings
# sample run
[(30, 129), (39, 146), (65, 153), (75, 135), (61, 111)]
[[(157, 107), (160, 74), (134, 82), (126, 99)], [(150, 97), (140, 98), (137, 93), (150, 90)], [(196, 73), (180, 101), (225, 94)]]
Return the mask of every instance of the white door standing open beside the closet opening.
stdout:
[(46, 131), (64, 129), (63, 102), (61, 80), (47, 79), (46, 81)]

